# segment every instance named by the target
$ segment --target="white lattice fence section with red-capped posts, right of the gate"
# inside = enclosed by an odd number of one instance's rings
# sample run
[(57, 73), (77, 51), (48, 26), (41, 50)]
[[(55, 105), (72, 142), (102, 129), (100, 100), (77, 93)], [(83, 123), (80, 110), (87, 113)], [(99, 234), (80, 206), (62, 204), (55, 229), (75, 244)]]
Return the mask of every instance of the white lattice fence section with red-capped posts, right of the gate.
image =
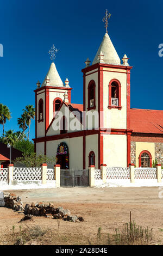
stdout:
[(95, 170), (95, 186), (107, 183), (110, 186), (162, 186), (163, 170), (161, 164), (156, 164), (156, 168), (135, 168), (133, 163), (129, 167), (102, 164), (100, 170)]

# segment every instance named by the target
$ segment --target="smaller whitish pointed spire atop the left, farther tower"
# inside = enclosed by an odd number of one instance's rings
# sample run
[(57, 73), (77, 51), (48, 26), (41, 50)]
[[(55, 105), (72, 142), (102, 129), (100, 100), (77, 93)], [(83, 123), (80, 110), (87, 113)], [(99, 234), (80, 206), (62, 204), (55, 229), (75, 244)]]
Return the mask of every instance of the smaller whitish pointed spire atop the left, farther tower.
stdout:
[[(47, 84), (47, 79), (49, 80), (48, 84)], [(58, 71), (56, 69), (56, 66), (54, 64), (54, 62), (52, 62), (47, 75), (45, 77), (45, 80), (42, 83), (42, 87), (43, 86), (56, 86), (56, 87), (63, 87), (63, 82), (61, 81), (61, 78), (58, 74)]]

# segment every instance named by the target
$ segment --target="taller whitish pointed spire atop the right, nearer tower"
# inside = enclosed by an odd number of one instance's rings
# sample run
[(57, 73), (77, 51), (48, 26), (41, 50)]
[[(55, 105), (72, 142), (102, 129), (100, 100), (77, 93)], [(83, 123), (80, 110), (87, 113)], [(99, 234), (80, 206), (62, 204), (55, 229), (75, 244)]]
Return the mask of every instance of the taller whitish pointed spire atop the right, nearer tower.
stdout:
[(102, 43), (99, 46), (98, 51), (96, 53), (95, 59), (93, 59), (92, 65), (100, 61), (98, 56), (101, 55), (101, 52), (104, 55), (103, 57), (104, 63), (121, 65), (121, 60), (114, 48), (114, 45), (110, 40), (108, 33), (104, 35)]

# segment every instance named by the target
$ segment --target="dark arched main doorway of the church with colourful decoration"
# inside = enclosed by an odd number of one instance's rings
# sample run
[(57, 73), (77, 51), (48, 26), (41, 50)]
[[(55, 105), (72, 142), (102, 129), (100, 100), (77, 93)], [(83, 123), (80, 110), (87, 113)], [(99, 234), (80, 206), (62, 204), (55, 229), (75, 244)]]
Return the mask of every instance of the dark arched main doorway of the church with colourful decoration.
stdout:
[(57, 148), (56, 163), (60, 164), (61, 169), (69, 168), (69, 152), (65, 142), (61, 142)]

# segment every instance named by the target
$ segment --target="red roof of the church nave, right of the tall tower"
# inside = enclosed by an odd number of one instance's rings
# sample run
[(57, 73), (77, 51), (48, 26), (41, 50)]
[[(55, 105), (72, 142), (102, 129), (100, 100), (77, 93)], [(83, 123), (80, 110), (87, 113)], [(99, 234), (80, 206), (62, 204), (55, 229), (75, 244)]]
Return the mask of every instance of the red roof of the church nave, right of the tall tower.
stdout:
[(130, 129), (133, 132), (163, 134), (163, 111), (131, 108)]

